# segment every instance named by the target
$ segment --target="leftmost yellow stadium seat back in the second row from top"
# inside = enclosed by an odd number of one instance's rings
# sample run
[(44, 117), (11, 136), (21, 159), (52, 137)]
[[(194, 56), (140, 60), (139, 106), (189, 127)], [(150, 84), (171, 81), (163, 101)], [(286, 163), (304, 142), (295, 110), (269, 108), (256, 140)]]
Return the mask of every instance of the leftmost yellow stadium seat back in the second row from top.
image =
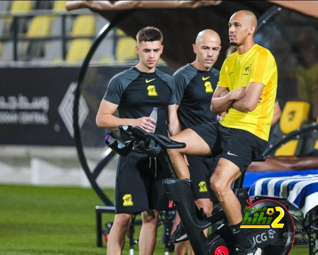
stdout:
[(46, 37), (50, 33), (51, 17), (36, 16), (31, 20), (30, 27), (27, 31), (27, 37)]

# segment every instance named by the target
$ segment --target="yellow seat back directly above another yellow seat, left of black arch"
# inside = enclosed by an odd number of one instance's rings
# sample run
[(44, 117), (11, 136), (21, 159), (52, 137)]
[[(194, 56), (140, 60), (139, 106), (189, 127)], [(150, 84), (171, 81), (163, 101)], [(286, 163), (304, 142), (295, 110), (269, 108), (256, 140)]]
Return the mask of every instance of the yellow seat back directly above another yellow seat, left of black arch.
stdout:
[(73, 25), (72, 36), (89, 36), (95, 32), (95, 17), (93, 15), (79, 15)]

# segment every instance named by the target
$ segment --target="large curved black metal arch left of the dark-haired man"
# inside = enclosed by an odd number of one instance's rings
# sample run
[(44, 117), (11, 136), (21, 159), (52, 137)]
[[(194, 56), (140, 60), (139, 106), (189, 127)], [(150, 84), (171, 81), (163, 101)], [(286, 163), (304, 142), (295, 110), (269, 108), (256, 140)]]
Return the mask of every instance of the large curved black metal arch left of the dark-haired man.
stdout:
[(86, 75), (87, 69), (88, 69), (88, 64), (90, 59), (92, 58), (95, 50), (97, 49), (98, 45), (100, 42), (104, 39), (104, 37), (108, 34), (108, 32), (114, 28), (120, 21), (125, 19), (127, 16), (132, 14), (136, 9), (131, 9), (131, 10), (125, 10), (120, 12), (115, 18), (113, 18), (112, 21), (107, 23), (96, 35), (95, 39), (93, 40), (92, 46), (89, 49), (83, 64), (81, 66), (80, 72), (79, 72), (79, 80), (77, 84), (77, 88), (75, 90), (75, 99), (74, 99), (74, 106), (73, 106), (73, 129), (74, 129), (74, 141), (76, 145), (76, 149), (79, 155), (79, 161), (80, 164), (92, 186), (92, 188), (95, 190), (99, 198), (104, 202), (105, 205), (107, 206), (113, 206), (114, 204), (110, 199), (105, 195), (105, 193), (101, 190), (101, 188), (98, 186), (96, 183), (96, 179), (102, 169), (105, 167), (105, 165), (110, 161), (110, 159), (116, 154), (111, 149), (108, 149), (106, 153), (103, 155), (103, 157), (99, 160), (97, 165), (95, 166), (94, 169), (89, 168), (87, 164), (87, 160), (85, 157), (85, 153), (83, 151), (83, 144), (80, 136), (80, 127), (79, 127), (79, 98), (81, 96), (82, 92), (82, 87), (83, 87), (83, 81), (84, 77)]

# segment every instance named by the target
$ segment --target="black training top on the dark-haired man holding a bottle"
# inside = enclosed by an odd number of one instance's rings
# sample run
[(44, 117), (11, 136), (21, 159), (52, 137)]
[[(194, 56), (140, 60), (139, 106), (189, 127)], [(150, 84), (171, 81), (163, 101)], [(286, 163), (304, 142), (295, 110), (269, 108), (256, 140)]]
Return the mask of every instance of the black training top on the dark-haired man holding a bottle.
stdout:
[[(132, 67), (109, 81), (104, 100), (118, 105), (119, 117), (124, 119), (148, 117), (157, 107), (155, 133), (167, 135), (168, 106), (176, 104), (175, 84), (170, 75), (158, 69), (154, 73), (144, 73)], [(121, 137), (129, 138), (123, 134)]]

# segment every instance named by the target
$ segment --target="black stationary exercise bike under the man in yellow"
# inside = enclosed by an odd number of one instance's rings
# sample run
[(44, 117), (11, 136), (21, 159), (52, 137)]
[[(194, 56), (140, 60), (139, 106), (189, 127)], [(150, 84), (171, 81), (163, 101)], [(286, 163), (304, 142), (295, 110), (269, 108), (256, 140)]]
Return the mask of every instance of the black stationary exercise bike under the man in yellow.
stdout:
[[(139, 127), (129, 128), (133, 136), (132, 141), (127, 144), (124, 149), (117, 148), (115, 144), (112, 148), (116, 150), (119, 154), (120, 152), (130, 150), (132, 146), (140, 149), (146, 154), (157, 157), (162, 165), (163, 171), (165, 172), (167, 179), (162, 181), (166, 193), (170, 200), (173, 201), (184, 229), (187, 233), (188, 239), (196, 255), (227, 255), (229, 252), (234, 253), (234, 236), (230, 228), (230, 224), (226, 218), (226, 215), (222, 208), (216, 209), (216, 211), (210, 216), (206, 217), (202, 215), (199, 209), (196, 207), (194, 202), (194, 196), (192, 192), (191, 180), (180, 180), (177, 178), (175, 169), (171, 163), (170, 157), (167, 152), (167, 148), (182, 148), (185, 147), (184, 143), (179, 143), (172, 141), (166, 136), (155, 135), (153, 133), (146, 133), (143, 129)], [(122, 129), (123, 130), (123, 129)], [(125, 129), (124, 129), (125, 130)], [(111, 131), (109, 132), (111, 135)], [(124, 153), (123, 153), (124, 154)], [(264, 158), (256, 158), (254, 161), (263, 161)], [(241, 205), (241, 213), (243, 214), (243, 208), (251, 206), (251, 200), (245, 189), (242, 189), (244, 173), (235, 181), (233, 191), (239, 199)], [(260, 200), (257, 204), (263, 202), (270, 202), (273, 207), (276, 205), (284, 207), (282, 204), (274, 200)], [(254, 204), (253, 204), (254, 205)], [(285, 207), (284, 207), (285, 208)], [(286, 212), (287, 209), (286, 209)], [(289, 213), (288, 213), (289, 214)], [(291, 219), (291, 220), (289, 220)], [(203, 230), (211, 227), (213, 224), (222, 221), (222, 225), (214, 230), (207, 237), (204, 235)], [(282, 250), (280, 255), (288, 254), (291, 250), (289, 244), (293, 244), (295, 229), (294, 223), (291, 216), (288, 216), (289, 225), (292, 225), (293, 235), (287, 236), (287, 247)], [(287, 226), (290, 229), (290, 226)], [(247, 237), (250, 240), (256, 240), (256, 238), (266, 230), (264, 229), (248, 229), (246, 230)], [(270, 245), (269, 242), (262, 242), (260, 248), (266, 248)], [(270, 241), (270, 240), (269, 240)], [(286, 250), (286, 251), (285, 251)], [(280, 252), (280, 251), (279, 251)], [(277, 254), (277, 253), (276, 253)]]

